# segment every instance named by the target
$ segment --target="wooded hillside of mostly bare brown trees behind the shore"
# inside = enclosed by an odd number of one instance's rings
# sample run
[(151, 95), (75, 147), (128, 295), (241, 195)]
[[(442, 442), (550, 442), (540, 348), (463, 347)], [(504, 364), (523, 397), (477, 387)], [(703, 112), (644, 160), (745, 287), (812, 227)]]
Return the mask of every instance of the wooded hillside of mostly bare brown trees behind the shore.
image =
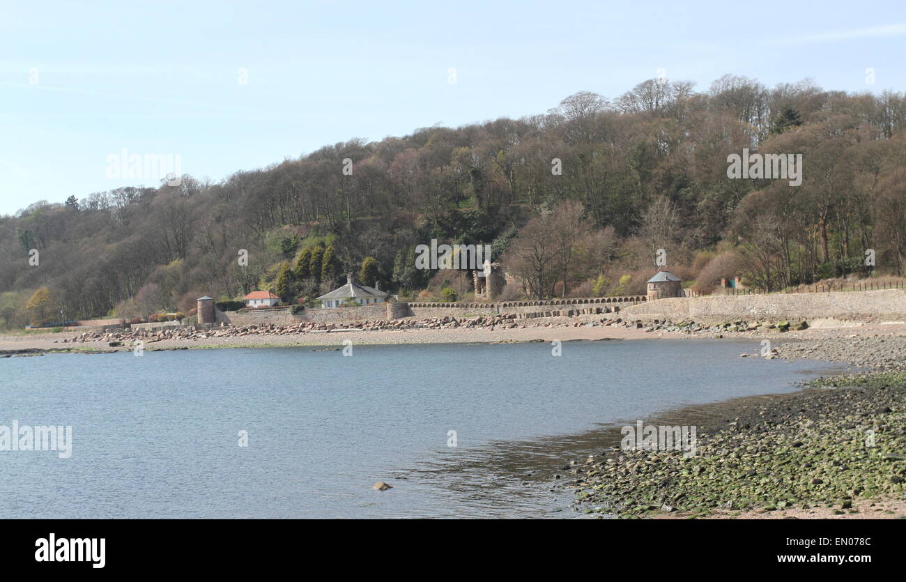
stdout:
[[(523, 281), (507, 287), (516, 295), (637, 293), (658, 249), (705, 292), (735, 275), (769, 290), (901, 276), (904, 127), (903, 93), (651, 80), (518, 120), (340, 142), (217, 183), (66, 192), (0, 217), (0, 325), (34, 319), (40, 288), (47, 322), (188, 312), (197, 296), (256, 288), (310, 300), (366, 257), (368, 285), (465, 296), (464, 274), (414, 267), (432, 238), (490, 244)], [(728, 156), (744, 150), (801, 154), (801, 184), (730, 179)]]

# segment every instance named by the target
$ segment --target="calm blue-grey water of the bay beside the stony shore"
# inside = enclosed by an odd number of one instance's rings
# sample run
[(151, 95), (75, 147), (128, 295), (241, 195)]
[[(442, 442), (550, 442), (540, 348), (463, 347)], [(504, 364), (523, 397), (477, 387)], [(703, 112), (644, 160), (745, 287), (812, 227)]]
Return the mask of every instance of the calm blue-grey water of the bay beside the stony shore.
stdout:
[[(550, 344), (444, 344), (356, 346), (352, 357), (294, 347), (0, 359), (0, 425), (72, 425), (73, 439), (69, 459), (0, 451), (0, 518), (572, 517), (569, 494), (545, 482), (565, 455), (589, 452), (603, 426), (789, 392), (832, 370), (738, 358), (757, 347), (644, 340), (564, 343), (562, 357)], [(378, 480), (394, 489), (371, 490)]]

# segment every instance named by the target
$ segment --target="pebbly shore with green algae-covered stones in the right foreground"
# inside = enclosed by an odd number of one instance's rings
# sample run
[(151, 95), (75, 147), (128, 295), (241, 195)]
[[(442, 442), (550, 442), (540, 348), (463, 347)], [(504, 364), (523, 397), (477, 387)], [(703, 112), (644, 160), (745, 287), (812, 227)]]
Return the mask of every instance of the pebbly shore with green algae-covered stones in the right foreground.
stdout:
[[(564, 467), (598, 517), (906, 517), (906, 337), (778, 344), (776, 357), (869, 370), (714, 405), (694, 455), (613, 448)], [(881, 509), (883, 508), (883, 509)], [(793, 510), (793, 511), (791, 511)]]

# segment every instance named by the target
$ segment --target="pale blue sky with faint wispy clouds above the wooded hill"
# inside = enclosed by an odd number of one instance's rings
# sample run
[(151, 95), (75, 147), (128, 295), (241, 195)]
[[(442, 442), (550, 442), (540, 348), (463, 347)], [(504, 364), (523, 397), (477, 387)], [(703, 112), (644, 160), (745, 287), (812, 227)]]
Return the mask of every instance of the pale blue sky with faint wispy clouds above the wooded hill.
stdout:
[(699, 91), (725, 73), (906, 90), (902, 0), (442, 4), (0, 0), (0, 215), (159, 184), (124, 158), (217, 181), (660, 69)]

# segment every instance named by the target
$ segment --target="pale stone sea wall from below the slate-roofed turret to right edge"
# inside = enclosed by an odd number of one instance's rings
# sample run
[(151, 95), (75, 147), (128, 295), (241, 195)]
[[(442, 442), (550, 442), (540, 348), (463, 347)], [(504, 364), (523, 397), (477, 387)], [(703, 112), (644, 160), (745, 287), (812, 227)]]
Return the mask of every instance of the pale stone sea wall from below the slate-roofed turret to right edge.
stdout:
[(906, 319), (906, 289), (751, 296), (672, 297), (622, 309), (624, 319), (791, 321), (834, 318), (850, 321)]

